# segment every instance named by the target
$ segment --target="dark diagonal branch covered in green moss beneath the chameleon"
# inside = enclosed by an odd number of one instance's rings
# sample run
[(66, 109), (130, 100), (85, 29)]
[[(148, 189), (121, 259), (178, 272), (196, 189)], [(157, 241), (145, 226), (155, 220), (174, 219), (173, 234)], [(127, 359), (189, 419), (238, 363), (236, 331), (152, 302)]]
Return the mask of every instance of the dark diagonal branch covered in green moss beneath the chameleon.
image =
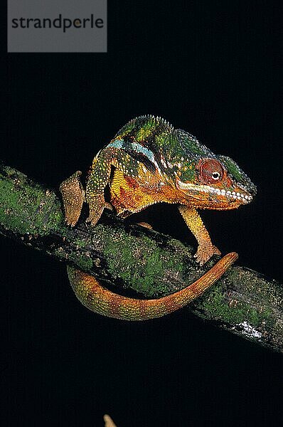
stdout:
[[(87, 227), (84, 218), (69, 228), (58, 194), (6, 166), (0, 167), (0, 233), (72, 263), (129, 296), (132, 291), (151, 298), (176, 292), (217, 258), (200, 268), (186, 244), (113, 214), (103, 214), (94, 228)], [(235, 265), (188, 310), (283, 352), (282, 303), (282, 285)]]

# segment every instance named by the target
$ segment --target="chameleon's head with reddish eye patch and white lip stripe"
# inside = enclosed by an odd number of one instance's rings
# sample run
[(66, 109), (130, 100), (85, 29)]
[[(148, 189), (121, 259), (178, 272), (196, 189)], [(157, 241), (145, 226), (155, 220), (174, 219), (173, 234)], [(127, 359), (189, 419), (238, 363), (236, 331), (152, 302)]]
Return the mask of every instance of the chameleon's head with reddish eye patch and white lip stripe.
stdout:
[(186, 193), (191, 206), (203, 209), (235, 209), (250, 203), (257, 192), (233, 159), (212, 153), (211, 157), (188, 159), (187, 165), (184, 162), (176, 185)]

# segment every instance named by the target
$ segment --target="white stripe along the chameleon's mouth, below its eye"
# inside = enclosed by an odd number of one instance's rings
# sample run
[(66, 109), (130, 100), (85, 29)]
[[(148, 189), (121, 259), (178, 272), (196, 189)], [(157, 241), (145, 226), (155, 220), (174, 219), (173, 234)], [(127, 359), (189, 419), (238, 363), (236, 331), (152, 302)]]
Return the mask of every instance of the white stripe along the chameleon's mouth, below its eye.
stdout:
[[(205, 184), (192, 184), (190, 182), (177, 181), (178, 189), (182, 191), (190, 191), (191, 194), (203, 194), (205, 196), (216, 196), (221, 201), (235, 202), (238, 201), (240, 204), (248, 204), (252, 201), (252, 194), (248, 191), (242, 190), (239, 187), (235, 188), (235, 191), (220, 189), (215, 186)], [(205, 197), (206, 199), (206, 197)]]

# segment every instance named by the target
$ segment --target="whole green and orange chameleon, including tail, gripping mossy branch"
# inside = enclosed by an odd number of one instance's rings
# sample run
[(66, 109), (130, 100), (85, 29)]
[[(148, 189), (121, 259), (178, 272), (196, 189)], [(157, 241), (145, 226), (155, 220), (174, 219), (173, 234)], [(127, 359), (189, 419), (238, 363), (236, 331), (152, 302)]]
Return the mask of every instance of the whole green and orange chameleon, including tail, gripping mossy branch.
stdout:
[[(78, 222), (84, 201), (91, 226), (112, 206), (118, 216), (126, 218), (159, 202), (177, 204), (198, 242), (194, 256), (200, 265), (220, 251), (211, 242), (198, 209), (236, 209), (250, 203), (257, 192), (233, 159), (213, 154), (193, 135), (153, 115), (129, 121), (97, 153), (85, 191), (80, 174), (75, 172), (60, 185), (69, 226)], [(105, 201), (106, 187), (110, 203)], [(117, 295), (73, 267), (68, 267), (68, 278), (75, 295), (90, 310), (117, 319), (146, 320), (167, 315), (202, 295), (236, 259), (237, 253), (228, 253), (196, 282), (154, 300)]]

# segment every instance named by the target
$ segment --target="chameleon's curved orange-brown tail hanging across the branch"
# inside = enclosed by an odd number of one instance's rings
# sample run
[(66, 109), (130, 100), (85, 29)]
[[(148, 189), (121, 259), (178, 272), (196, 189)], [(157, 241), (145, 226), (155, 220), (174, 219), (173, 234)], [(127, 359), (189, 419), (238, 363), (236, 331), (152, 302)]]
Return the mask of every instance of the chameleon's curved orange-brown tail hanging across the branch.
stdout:
[(116, 319), (147, 320), (168, 315), (187, 305), (213, 285), (235, 260), (237, 253), (228, 253), (187, 288), (156, 300), (137, 300), (117, 295), (102, 288), (91, 275), (73, 267), (68, 267), (68, 276), (78, 300), (90, 310)]

